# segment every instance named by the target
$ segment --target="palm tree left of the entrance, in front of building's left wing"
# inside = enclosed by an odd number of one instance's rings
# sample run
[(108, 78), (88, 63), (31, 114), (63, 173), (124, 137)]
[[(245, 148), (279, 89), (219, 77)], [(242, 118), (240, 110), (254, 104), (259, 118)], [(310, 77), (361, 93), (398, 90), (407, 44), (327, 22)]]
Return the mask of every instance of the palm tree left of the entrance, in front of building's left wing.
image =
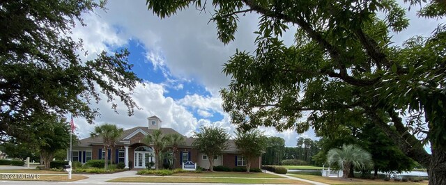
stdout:
[(112, 150), (112, 147), (116, 144), (116, 140), (118, 140), (119, 137), (123, 134), (124, 129), (116, 127), (115, 124), (102, 124), (100, 126), (95, 127), (95, 131), (91, 132), (91, 137), (102, 137), (102, 141), (104, 143), (104, 150), (105, 150), (105, 170), (109, 167), (108, 159), (109, 159), (109, 152), (108, 150)]

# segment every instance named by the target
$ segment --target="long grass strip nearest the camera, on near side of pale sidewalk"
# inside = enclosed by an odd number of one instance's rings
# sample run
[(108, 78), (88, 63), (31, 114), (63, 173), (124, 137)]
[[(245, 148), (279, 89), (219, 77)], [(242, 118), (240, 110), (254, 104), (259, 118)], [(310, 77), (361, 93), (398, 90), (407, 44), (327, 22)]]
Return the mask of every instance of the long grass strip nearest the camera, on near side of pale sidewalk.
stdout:
[(203, 177), (122, 177), (107, 182), (170, 182), (170, 183), (226, 183), (226, 184), (308, 184), (293, 179), (243, 179)]

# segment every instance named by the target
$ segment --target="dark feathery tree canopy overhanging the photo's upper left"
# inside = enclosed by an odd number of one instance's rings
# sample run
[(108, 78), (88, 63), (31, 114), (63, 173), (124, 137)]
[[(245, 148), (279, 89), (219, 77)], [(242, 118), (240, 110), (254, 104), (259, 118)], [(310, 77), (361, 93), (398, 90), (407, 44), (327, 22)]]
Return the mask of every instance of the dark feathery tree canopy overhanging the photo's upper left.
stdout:
[[(105, 95), (116, 110), (118, 98), (132, 115), (131, 93), (141, 81), (128, 63), (126, 49), (91, 61), (79, 56), (82, 40), (74, 26), (86, 26), (83, 13), (104, 8), (105, 1), (0, 2), (0, 135), (26, 138), (30, 122), (57, 113), (86, 118), (98, 110), (89, 105)], [(76, 24), (78, 22), (78, 24)]]

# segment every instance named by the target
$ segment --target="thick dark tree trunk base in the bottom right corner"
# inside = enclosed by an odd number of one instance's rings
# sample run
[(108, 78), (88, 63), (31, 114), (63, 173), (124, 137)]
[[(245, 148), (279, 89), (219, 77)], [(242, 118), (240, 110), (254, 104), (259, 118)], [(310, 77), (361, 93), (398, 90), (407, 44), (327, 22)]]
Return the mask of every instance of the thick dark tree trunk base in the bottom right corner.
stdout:
[(432, 147), (431, 165), (427, 168), (429, 185), (446, 184), (446, 148)]

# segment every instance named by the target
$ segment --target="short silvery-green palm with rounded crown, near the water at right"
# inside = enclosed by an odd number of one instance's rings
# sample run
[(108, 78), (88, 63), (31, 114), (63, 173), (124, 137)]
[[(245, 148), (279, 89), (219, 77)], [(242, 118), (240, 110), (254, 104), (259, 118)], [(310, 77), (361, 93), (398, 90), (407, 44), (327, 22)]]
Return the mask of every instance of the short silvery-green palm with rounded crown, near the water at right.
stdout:
[(347, 178), (351, 165), (354, 168), (369, 168), (373, 161), (371, 154), (357, 145), (342, 145), (342, 149), (333, 148), (327, 154), (328, 163), (337, 162), (342, 167), (342, 177)]

